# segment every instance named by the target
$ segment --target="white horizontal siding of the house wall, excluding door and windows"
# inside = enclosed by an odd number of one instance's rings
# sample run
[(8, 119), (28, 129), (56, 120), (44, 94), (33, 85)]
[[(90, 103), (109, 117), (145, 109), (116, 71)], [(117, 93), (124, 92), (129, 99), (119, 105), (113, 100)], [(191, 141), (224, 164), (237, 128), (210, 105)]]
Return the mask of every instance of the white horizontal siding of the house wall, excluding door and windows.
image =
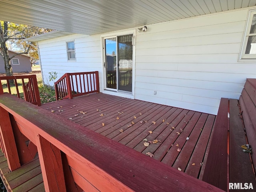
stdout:
[[(238, 62), (249, 9), (149, 25), (136, 34), (134, 98), (216, 114), (220, 98), (238, 99), (256, 64)], [(75, 40), (76, 62), (66, 41)], [(44, 81), (48, 72), (100, 72), (101, 36), (69, 35), (38, 42)], [(156, 91), (156, 95), (154, 95)], [(111, 94), (111, 93), (110, 93)]]

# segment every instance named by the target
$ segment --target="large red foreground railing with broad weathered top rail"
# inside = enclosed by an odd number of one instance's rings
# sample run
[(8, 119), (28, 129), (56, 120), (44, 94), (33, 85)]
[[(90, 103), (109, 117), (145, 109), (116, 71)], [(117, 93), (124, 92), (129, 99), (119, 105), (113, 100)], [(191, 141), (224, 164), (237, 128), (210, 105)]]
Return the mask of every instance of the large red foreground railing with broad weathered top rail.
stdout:
[[(13, 118), (6, 121), (3, 114)], [(9, 167), (17, 162), (16, 144), (10, 143), (14, 125), (37, 146), (46, 192), (77, 191), (76, 184), (84, 191), (102, 192), (222, 191), (38, 106), (1, 94), (0, 143), (2, 148), (8, 144), (4, 151)], [(3, 129), (9, 134), (2, 134)]]

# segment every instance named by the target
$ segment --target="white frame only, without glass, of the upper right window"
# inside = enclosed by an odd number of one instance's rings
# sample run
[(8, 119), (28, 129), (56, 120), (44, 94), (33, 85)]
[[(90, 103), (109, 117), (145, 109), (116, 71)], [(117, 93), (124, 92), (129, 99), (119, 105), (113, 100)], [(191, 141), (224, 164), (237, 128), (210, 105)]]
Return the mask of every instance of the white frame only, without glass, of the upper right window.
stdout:
[(252, 18), (254, 14), (256, 14), (256, 9), (249, 10), (238, 62), (255, 62), (256, 61), (256, 54), (245, 54), (249, 36), (256, 36), (256, 33), (250, 34), (250, 27), (252, 24)]

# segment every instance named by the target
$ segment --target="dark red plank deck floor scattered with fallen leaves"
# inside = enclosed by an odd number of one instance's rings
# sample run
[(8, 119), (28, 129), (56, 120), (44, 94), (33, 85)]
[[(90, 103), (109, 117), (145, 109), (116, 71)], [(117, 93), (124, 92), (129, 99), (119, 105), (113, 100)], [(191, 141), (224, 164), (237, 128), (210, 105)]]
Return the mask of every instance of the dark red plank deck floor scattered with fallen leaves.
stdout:
[(41, 107), (195, 178), (203, 172), (216, 117), (102, 93)]

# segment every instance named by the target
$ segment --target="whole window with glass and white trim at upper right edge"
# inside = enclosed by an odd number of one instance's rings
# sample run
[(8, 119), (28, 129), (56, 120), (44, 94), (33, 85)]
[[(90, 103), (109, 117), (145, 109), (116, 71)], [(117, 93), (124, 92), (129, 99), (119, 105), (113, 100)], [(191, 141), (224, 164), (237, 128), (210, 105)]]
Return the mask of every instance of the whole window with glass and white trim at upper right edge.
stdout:
[(254, 62), (256, 59), (256, 10), (249, 12), (240, 53), (240, 60), (250, 59)]

